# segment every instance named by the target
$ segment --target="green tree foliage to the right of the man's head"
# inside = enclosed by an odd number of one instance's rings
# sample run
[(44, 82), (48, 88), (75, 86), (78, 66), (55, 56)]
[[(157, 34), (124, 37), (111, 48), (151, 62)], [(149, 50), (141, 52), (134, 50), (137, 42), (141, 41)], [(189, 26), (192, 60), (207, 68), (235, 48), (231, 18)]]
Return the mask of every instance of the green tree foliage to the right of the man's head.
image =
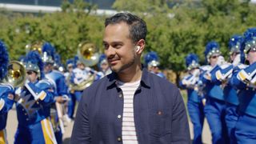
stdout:
[(255, 22), (255, 6), (248, 1), (185, 1), (177, 5), (173, 5), (173, 1), (158, 1), (157, 5), (154, 2), (145, 0), (143, 3), (146, 4), (136, 5), (135, 0), (130, 0), (130, 4), (117, 0), (114, 8), (133, 12), (146, 20), (149, 30), (147, 50), (158, 52), (162, 67), (174, 70), (178, 76), (185, 70), (186, 54), (198, 54), (204, 63), (206, 43), (214, 40), (220, 43), (227, 56), (229, 38), (233, 34), (242, 34)]

